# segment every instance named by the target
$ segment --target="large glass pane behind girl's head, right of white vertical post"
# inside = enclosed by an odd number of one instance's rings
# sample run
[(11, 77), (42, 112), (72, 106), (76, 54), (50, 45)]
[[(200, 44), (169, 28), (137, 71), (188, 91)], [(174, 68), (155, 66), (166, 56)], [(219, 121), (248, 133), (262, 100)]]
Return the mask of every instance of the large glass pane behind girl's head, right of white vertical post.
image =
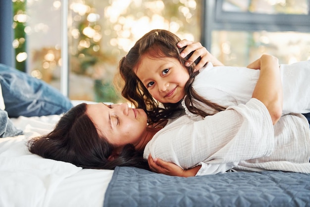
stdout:
[(199, 40), (196, 0), (72, 0), (69, 28), (70, 98), (117, 102), (113, 76), (119, 60), (145, 33), (167, 29)]

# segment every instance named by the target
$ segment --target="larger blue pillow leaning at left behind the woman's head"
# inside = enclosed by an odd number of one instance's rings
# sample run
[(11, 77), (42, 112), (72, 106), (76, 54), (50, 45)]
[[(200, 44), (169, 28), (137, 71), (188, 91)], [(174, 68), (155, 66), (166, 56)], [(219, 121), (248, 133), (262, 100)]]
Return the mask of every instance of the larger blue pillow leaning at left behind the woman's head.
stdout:
[(0, 84), (9, 117), (61, 114), (73, 106), (51, 85), (3, 64), (0, 64)]

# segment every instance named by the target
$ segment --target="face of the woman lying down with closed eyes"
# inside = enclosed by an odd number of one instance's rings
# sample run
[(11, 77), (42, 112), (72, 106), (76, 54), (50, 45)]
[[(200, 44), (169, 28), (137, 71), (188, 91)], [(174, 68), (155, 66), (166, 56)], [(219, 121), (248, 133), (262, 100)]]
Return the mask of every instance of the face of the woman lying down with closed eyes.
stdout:
[(147, 115), (143, 109), (132, 109), (128, 104), (88, 104), (87, 115), (93, 121), (99, 135), (114, 147), (122, 149), (132, 143), (136, 149), (145, 147), (144, 135)]

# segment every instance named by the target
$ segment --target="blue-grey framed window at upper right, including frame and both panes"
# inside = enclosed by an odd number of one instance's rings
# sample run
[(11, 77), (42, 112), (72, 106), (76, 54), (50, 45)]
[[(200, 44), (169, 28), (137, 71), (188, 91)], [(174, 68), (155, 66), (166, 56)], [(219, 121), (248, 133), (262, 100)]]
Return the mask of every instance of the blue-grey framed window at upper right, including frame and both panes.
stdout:
[(309, 0), (207, 0), (203, 43), (225, 65), (310, 59)]

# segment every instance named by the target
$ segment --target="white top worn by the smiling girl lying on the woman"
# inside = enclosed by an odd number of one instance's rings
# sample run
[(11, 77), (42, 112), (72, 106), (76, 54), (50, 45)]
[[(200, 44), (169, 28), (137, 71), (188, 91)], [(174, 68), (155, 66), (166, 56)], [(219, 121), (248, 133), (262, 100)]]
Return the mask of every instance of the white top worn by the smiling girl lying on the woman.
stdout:
[[(247, 103), (253, 94), (259, 76), (259, 69), (246, 67), (217, 66), (211, 63), (200, 70), (192, 87), (205, 99), (221, 106), (237, 106)], [(283, 88), (283, 114), (310, 113), (310, 61), (291, 65), (280, 65)], [(189, 116), (184, 101), (182, 103)], [(196, 101), (197, 108), (214, 114), (207, 105)]]

